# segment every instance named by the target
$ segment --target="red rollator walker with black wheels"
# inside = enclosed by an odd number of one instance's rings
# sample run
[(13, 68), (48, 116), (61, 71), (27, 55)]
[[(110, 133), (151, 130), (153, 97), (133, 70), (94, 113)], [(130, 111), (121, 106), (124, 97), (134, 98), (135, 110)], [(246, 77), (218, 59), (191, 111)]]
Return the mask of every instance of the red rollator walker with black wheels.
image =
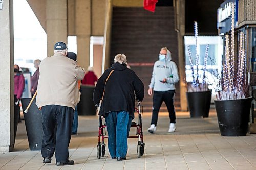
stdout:
[[(138, 108), (135, 107), (136, 112), (138, 113), (138, 124), (136, 122), (132, 122), (131, 127), (135, 127), (136, 136), (128, 136), (128, 138), (138, 138), (137, 145), (137, 155), (138, 158), (143, 156), (145, 151), (145, 143), (143, 142), (143, 131), (142, 131), (142, 113), (140, 112), (140, 102), (138, 102)], [(100, 159), (101, 156), (105, 156), (106, 144), (104, 139), (108, 139), (106, 136), (106, 128), (107, 125), (102, 123), (101, 115), (99, 115), (99, 135), (98, 135), (98, 145), (97, 145), (97, 158)]]

